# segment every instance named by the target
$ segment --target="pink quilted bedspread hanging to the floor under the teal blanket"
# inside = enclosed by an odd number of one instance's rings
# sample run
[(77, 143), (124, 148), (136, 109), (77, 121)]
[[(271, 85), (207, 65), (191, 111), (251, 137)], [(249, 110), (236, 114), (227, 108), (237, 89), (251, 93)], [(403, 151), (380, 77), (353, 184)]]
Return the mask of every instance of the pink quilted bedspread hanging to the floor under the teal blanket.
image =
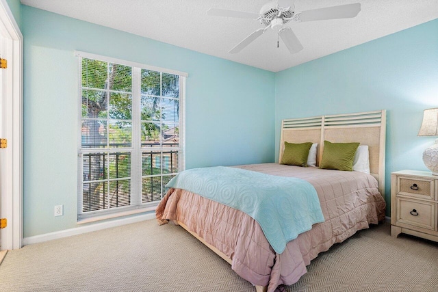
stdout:
[(279, 284), (294, 284), (320, 252), (385, 219), (385, 200), (376, 179), (368, 174), (278, 163), (237, 167), (309, 181), (318, 192), (325, 222), (314, 224), (289, 241), (283, 253), (276, 254), (253, 218), (189, 191), (170, 189), (157, 207), (157, 220), (159, 224), (183, 222), (231, 258), (237, 274), (253, 284), (268, 286), (268, 291)]

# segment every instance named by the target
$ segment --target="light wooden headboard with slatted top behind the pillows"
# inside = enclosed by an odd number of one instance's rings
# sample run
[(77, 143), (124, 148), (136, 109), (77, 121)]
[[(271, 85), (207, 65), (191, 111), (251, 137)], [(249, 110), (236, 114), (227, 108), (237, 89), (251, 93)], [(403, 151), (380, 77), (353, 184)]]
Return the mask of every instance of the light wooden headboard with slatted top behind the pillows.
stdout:
[(385, 196), (385, 137), (386, 111), (367, 111), (355, 114), (294, 118), (281, 122), (279, 161), (284, 142), (318, 143), (316, 165), (319, 165), (324, 140), (333, 143), (360, 142), (368, 145), (370, 172), (378, 181), (378, 189)]

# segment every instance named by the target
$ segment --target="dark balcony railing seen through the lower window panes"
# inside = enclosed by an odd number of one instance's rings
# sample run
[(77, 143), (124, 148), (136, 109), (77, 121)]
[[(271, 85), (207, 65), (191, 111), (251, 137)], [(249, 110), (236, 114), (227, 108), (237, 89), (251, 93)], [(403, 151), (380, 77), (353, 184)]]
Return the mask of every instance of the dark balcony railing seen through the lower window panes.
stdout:
[[(142, 152), (142, 203), (161, 200), (178, 169), (178, 151)], [(129, 152), (83, 154), (82, 211), (129, 206), (130, 170)]]

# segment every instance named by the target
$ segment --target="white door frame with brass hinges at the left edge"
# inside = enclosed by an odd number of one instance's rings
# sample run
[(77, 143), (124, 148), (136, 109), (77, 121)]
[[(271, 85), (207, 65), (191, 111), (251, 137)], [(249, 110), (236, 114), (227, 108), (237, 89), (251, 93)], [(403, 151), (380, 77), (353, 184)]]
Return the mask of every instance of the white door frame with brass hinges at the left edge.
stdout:
[[(23, 245), (23, 35), (6, 0), (0, 0), (0, 35), (3, 38), (3, 137), (8, 148), (1, 150), (1, 217), (8, 226), (1, 229), (1, 248)], [(3, 69), (2, 69), (3, 70)]]

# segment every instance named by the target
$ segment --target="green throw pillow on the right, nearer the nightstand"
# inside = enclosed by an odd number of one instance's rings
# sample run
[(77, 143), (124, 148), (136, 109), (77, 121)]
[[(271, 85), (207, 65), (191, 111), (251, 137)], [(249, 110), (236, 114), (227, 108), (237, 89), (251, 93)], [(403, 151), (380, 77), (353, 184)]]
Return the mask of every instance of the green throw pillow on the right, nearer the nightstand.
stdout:
[(324, 141), (320, 168), (326, 170), (353, 170), (353, 160), (360, 143), (331, 143)]

